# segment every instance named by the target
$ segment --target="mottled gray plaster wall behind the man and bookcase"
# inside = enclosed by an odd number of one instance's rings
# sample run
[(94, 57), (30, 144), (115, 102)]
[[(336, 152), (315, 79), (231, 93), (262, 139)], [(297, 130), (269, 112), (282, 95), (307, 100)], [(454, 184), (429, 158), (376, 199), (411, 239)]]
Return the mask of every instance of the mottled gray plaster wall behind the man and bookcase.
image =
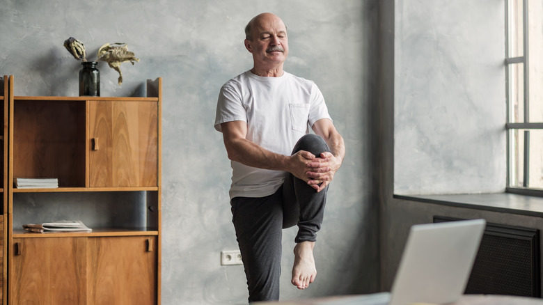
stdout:
[[(75, 96), (81, 65), (63, 41), (83, 41), (90, 60), (104, 43), (126, 42), (141, 61), (123, 63), (122, 86), (117, 73), (100, 63), (102, 96), (144, 95), (145, 79), (164, 78), (162, 303), (243, 304), (242, 267), (219, 263), (221, 250), (236, 249), (237, 242), (228, 203), (230, 165), (212, 125), (220, 86), (252, 67), (243, 46), (246, 22), (276, 13), (289, 30), (285, 70), (320, 86), (347, 146), (315, 248), (317, 281), (304, 292), (290, 284), (295, 232), (285, 230), (281, 297), (372, 292), (379, 273), (372, 149), (378, 6), (377, 0), (3, 0), (0, 75), (15, 75), (15, 95)], [(33, 203), (33, 196), (20, 197), (29, 208), (47, 208)]]

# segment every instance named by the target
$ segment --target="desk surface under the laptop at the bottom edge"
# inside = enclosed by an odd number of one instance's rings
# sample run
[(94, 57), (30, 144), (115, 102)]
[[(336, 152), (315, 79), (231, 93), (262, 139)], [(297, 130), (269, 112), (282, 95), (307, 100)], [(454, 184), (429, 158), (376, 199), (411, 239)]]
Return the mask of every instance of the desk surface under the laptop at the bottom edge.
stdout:
[[(318, 299), (299, 299), (292, 301), (274, 302), (277, 305), (334, 305), (346, 304), (345, 302), (356, 302), (363, 296), (347, 295), (342, 297), (323, 297)], [(348, 302), (351, 304), (351, 302)], [(270, 302), (259, 302), (255, 304), (271, 304)], [(363, 303), (361, 303), (363, 304)], [(422, 304), (417, 304), (422, 305)], [(430, 305), (430, 304), (424, 304)], [(530, 297), (511, 297), (505, 295), (464, 295), (458, 302), (449, 305), (543, 305), (543, 299)]]

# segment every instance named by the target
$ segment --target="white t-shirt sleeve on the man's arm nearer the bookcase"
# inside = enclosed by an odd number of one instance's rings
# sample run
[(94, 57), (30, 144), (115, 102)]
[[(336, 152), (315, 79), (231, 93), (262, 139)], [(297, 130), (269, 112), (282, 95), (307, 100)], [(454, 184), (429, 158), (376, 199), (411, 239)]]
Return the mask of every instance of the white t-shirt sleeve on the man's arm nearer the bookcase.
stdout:
[(247, 122), (247, 115), (242, 103), (240, 89), (235, 86), (233, 81), (229, 81), (221, 87), (219, 92), (217, 112), (215, 114), (215, 130), (222, 132), (221, 123), (234, 120)]

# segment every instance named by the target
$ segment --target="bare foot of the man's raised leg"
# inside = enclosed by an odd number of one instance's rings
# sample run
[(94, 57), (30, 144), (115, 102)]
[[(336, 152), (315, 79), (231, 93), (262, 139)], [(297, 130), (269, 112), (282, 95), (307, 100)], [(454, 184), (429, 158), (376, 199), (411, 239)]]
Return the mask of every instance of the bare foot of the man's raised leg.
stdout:
[(315, 281), (317, 268), (313, 258), (315, 242), (300, 242), (294, 247), (294, 266), (292, 267), (292, 285), (306, 289)]

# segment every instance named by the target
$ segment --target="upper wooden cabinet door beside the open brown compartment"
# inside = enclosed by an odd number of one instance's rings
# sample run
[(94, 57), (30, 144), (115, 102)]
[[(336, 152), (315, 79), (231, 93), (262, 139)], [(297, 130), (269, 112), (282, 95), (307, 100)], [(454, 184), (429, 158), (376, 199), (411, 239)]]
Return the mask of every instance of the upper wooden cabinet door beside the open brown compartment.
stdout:
[(157, 102), (89, 102), (89, 186), (157, 186)]

